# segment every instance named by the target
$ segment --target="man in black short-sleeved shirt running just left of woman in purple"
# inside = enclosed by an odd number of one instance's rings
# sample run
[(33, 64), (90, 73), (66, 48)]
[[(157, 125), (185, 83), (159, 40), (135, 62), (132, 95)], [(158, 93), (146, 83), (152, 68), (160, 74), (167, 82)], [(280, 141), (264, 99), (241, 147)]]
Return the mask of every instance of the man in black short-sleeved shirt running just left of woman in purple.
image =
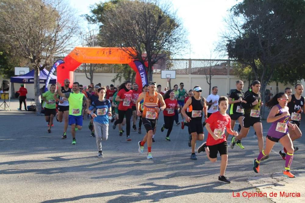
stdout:
[[(240, 103), (240, 107), (244, 109), (244, 118), (242, 119), (243, 128), (239, 132), (238, 136), (232, 137), (230, 147), (234, 148), (236, 140), (241, 140), (246, 137), (250, 126), (253, 126), (257, 141), (258, 141), (258, 149), (260, 152), (264, 148), (264, 139), (263, 139), (263, 126), (260, 117), (260, 107), (263, 105), (261, 102), (260, 96), (260, 81), (255, 80), (251, 84), (251, 89), (246, 91), (245, 97), (242, 99)], [(269, 156), (266, 156), (264, 159), (268, 159)]]

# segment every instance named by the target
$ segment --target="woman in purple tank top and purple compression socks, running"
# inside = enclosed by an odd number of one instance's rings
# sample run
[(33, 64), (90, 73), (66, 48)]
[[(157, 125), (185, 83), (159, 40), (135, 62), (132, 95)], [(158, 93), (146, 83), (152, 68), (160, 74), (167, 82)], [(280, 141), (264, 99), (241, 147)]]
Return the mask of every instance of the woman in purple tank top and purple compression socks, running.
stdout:
[(269, 153), (273, 148), (275, 142), (280, 143), (287, 149), (284, 176), (294, 178), (295, 176), (290, 173), (290, 166), (293, 158), (293, 146), (289, 137), (288, 127), (294, 130), (295, 124), (289, 122), (289, 108), (287, 107), (288, 96), (285, 93), (276, 94), (265, 105), (271, 108), (267, 122), (272, 123), (266, 137), (266, 147), (260, 152), (258, 157), (254, 159), (253, 170), (258, 173), (260, 170), (260, 162), (269, 157)]

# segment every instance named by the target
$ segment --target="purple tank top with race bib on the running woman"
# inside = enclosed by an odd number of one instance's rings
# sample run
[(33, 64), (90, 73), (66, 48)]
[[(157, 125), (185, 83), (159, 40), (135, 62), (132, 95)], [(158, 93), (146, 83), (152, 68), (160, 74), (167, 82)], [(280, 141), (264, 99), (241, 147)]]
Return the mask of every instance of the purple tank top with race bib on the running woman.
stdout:
[[(283, 109), (280, 105), (276, 105), (278, 109), (280, 110), (278, 114), (275, 116), (282, 115), (285, 109)], [(288, 111), (288, 110), (286, 110)], [(274, 137), (274, 138), (282, 138), (284, 135), (288, 132), (288, 122), (289, 122), (289, 116), (285, 116), (281, 119), (278, 119), (274, 122), (272, 122), (267, 135)]]

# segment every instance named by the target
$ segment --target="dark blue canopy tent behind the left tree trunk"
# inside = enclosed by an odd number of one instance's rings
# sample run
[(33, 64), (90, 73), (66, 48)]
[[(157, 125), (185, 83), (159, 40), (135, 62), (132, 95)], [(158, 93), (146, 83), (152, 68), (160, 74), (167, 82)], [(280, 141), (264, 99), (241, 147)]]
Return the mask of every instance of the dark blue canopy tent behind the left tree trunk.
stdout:
[[(45, 68), (39, 72), (39, 83), (40, 84), (45, 84), (47, 78), (48, 78), (48, 70)], [(57, 77), (53, 74), (50, 75), (51, 79), (49, 84), (56, 84)], [(31, 70), (27, 74), (20, 75), (20, 76), (15, 76), (11, 77), (11, 82), (10, 83), (24, 83), (24, 84), (34, 84), (34, 70)], [(11, 84), (10, 84), (11, 86)], [(9, 100), (11, 99), (11, 91), (9, 92)]]

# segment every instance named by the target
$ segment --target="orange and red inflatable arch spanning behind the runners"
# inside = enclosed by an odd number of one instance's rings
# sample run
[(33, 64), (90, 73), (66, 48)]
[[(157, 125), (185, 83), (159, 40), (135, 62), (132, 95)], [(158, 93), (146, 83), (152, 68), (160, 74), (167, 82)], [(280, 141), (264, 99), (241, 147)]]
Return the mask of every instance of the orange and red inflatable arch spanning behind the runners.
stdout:
[[(126, 47), (127, 52), (135, 53), (131, 47)], [(128, 64), (135, 72), (135, 82), (142, 89), (142, 79), (135, 65), (135, 60), (119, 47), (75, 47), (70, 54), (63, 58), (64, 63), (57, 67), (57, 82), (63, 84), (65, 79), (70, 80), (72, 88), (74, 71), (82, 63), (93, 64)]]

